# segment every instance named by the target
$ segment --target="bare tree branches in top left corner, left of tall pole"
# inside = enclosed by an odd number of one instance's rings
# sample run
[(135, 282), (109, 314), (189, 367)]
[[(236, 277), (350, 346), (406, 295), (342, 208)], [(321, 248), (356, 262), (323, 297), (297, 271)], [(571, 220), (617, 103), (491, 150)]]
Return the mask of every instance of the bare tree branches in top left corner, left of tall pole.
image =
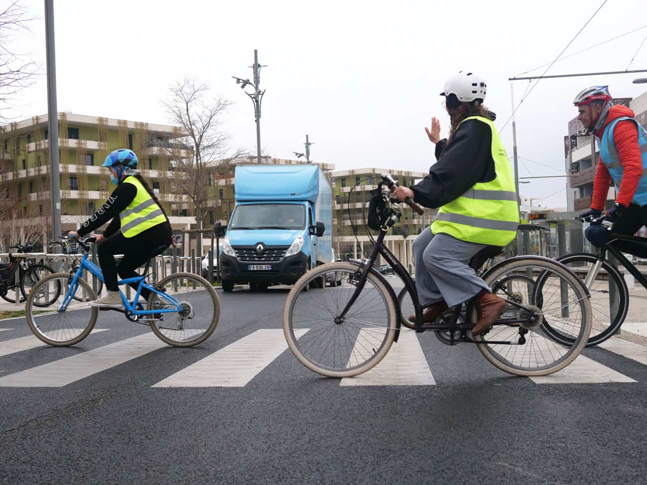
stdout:
[(36, 63), (10, 48), (16, 33), (29, 30), (27, 24), (32, 20), (27, 8), (18, 1), (12, 1), (0, 12), (0, 122), (7, 121), (3, 112), (15, 102), (21, 89), (34, 82), (39, 71)]

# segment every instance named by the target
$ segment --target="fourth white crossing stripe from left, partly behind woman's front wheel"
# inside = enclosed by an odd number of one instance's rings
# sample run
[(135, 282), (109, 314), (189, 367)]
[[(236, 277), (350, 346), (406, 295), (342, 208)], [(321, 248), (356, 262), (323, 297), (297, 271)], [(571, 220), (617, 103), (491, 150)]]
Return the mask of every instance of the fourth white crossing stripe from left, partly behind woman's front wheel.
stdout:
[[(366, 329), (370, 330), (370, 329)], [(362, 329), (355, 341), (361, 345)], [(435, 385), (422, 347), (415, 332), (400, 332), (397, 342), (373, 369), (355, 377), (345, 377), (340, 385)]]

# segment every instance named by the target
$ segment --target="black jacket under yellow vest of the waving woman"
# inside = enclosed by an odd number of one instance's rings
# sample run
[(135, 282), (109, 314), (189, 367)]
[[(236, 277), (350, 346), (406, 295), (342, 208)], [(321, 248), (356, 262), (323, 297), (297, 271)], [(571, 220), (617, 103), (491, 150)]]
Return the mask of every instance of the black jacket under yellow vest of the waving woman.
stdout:
[(492, 158), (492, 132), (479, 120), (467, 120), (459, 126), (450, 144), (443, 139), (436, 144), (437, 163), (421, 182), (410, 187), (413, 200), (428, 208), (439, 208), (457, 199), (477, 182), (496, 177)]

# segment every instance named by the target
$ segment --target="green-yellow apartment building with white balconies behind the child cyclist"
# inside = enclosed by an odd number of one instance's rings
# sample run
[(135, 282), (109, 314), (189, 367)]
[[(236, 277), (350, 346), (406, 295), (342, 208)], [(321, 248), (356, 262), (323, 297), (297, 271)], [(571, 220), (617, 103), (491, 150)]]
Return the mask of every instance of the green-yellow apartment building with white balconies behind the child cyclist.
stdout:
[[(137, 153), (142, 175), (159, 194), (174, 229), (195, 223), (192, 204), (177, 193), (173, 160), (191, 156), (190, 147), (174, 142), (177, 127), (81, 114), (58, 114), (61, 228), (63, 233), (94, 213), (113, 186), (101, 167), (117, 148)], [(50, 169), (47, 115), (0, 127), (0, 237), (14, 240), (50, 236)], [(22, 235), (22, 237), (20, 237)], [(40, 239), (40, 237), (36, 237)]]

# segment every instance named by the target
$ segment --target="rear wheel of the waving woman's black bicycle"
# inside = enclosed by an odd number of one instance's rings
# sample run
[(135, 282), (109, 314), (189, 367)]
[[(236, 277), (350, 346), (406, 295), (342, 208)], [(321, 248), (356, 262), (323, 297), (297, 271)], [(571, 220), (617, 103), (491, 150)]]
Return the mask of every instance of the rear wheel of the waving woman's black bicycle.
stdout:
[[(530, 308), (510, 304), (489, 332), (474, 337), (490, 363), (516, 376), (546, 376), (582, 352), (591, 333), (591, 303), (582, 281), (565, 266), (519, 256), (495, 266), (483, 279), (498, 296)], [(476, 322), (476, 305), (471, 307)], [(548, 326), (569, 334), (573, 342), (565, 345), (551, 338)]]

